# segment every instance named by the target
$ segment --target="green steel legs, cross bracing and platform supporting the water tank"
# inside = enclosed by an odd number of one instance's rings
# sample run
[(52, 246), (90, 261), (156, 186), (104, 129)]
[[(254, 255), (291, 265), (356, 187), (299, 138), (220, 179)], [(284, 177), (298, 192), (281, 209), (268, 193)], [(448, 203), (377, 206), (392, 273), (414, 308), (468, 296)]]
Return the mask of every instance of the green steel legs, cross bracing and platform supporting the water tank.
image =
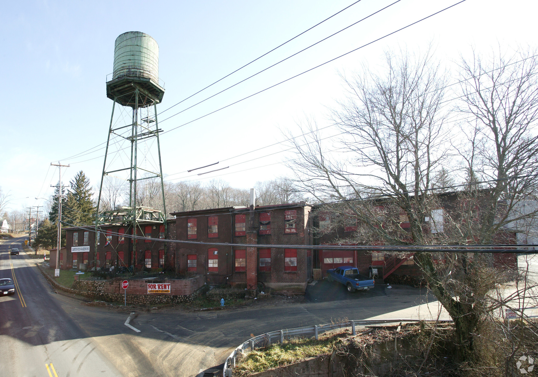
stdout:
[[(147, 81), (147, 82), (146, 82)], [(165, 227), (166, 235), (166, 202), (164, 194), (164, 183), (162, 180), (162, 164), (161, 164), (161, 151), (159, 134), (162, 129), (159, 128), (159, 122), (157, 120), (157, 103), (160, 103), (162, 96), (164, 95), (164, 89), (159, 85), (156, 85), (151, 79), (140, 79), (139, 77), (124, 76), (121, 79), (115, 79), (107, 82), (107, 96), (111, 98), (114, 103), (112, 104), (112, 114), (110, 117), (110, 126), (107, 138), (107, 147), (105, 148), (105, 156), (103, 162), (103, 170), (101, 175), (101, 186), (97, 199), (97, 208), (100, 206), (101, 194), (103, 190), (103, 179), (110, 173), (129, 170), (129, 206), (122, 207), (118, 210), (97, 211), (95, 217), (95, 231), (102, 225), (123, 225), (128, 226), (126, 231), (130, 229), (139, 229), (139, 223), (162, 223)], [(132, 122), (129, 125), (112, 128), (114, 120), (114, 110), (116, 104), (121, 106), (129, 106), (132, 108)], [(154, 118), (148, 116), (141, 118), (139, 123), (138, 117), (141, 108), (153, 106)], [(154, 125), (153, 125), (154, 123)], [(131, 127), (131, 135), (124, 136), (116, 133), (119, 129), (125, 129)], [(122, 137), (125, 140), (131, 142), (131, 156), (130, 164), (125, 168), (114, 169), (107, 171), (107, 157), (109, 153), (110, 137), (111, 135)], [(154, 172), (146, 170), (138, 166), (138, 141), (150, 139), (151, 137), (157, 138), (157, 152), (159, 156), (159, 171)], [(138, 171), (145, 171), (150, 173), (148, 177), (138, 177)], [(137, 206), (137, 182), (140, 180), (160, 178), (161, 195), (162, 195), (162, 209), (148, 208)], [(137, 264), (137, 241), (136, 239), (131, 244), (129, 243), (130, 261), (132, 265)], [(97, 237), (95, 237), (94, 251), (97, 251)], [(94, 266), (97, 266), (97, 252), (94, 252)], [(165, 253), (165, 267), (166, 267), (166, 253)], [(97, 268), (95, 269), (95, 271)], [(134, 270), (133, 270), (134, 271)]]

